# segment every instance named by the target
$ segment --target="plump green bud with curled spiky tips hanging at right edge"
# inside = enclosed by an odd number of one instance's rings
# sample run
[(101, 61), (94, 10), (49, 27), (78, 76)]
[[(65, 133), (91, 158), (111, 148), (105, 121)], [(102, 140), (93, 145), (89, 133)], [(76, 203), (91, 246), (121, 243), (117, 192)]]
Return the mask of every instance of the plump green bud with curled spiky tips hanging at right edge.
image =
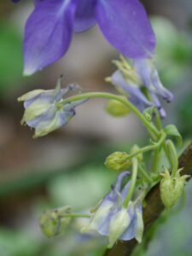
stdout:
[(162, 179), (160, 181), (160, 197), (166, 208), (173, 207), (178, 201), (179, 197), (183, 193), (184, 183), (189, 175), (180, 176), (179, 172), (182, 169), (177, 170), (176, 177), (171, 177), (167, 169), (164, 173), (161, 173)]

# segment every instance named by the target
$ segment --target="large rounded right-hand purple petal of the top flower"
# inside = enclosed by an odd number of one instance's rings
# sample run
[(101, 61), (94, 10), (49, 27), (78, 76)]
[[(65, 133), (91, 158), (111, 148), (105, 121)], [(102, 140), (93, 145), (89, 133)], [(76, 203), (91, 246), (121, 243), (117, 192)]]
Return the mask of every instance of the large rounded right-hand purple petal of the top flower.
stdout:
[(154, 32), (142, 3), (137, 0), (97, 0), (96, 20), (103, 35), (128, 57), (154, 54)]

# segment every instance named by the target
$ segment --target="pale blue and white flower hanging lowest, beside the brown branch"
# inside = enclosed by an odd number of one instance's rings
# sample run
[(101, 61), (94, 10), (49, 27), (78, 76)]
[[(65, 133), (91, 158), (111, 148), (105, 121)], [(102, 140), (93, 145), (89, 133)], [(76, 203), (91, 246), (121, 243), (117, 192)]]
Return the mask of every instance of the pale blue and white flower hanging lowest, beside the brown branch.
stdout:
[[(138, 242), (143, 236), (142, 205), (137, 201), (130, 201), (124, 208), (123, 201), (130, 187), (130, 182), (120, 189), (122, 178), (129, 172), (121, 172), (117, 182), (112, 186), (112, 191), (106, 195), (90, 218), (90, 224), (82, 232), (95, 230), (102, 236), (108, 236), (108, 247), (113, 247), (117, 240), (131, 240), (133, 237)], [(92, 211), (93, 212), (93, 211)]]

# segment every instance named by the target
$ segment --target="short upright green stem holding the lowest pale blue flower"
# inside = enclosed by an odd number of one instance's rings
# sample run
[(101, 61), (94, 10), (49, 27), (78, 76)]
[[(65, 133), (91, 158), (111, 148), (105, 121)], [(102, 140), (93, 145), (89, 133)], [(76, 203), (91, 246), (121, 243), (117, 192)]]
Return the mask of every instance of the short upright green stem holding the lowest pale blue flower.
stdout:
[(131, 175), (131, 184), (130, 189), (125, 197), (125, 201), (123, 202), (123, 207), (127, 208), (128, 203), (131, 200), (131, 196), (133, 194), (133, 191), (135, 189), (136, 181), (137, 181), (137, 169), (138, 169), (138, 160), (137, 158), (132, 159), (132, 175)]

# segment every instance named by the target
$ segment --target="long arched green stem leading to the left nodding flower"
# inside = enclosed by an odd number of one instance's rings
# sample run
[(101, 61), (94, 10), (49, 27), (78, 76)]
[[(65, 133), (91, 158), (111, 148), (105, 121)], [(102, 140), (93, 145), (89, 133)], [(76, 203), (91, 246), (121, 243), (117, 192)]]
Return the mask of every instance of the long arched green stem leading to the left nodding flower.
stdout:
[(160, 133), (154, 127), (154, 125), (149, 123), (148, 120), (143, 117), (143, 114), (140, 113), (139, 110), (133, 104), (131, 104), (131, 102), (127, 101), (122, 96), (117, 96), (117, 95), (114, 95), (112, 93), (107, 93), (107, 92), (88, 92), (88, 93), (84, 93), (84, 94), (79, 94), (77, 96), (69, 97), (62, 102), (55, 103), (55, 105), (58, 108), (61, 108), (63, 106), (63, 104), (65, 104), (67, 102), (75, 102), (75, 101), (78, 101), (78, 100), (81, 100), (84, 98), (93, 98), (93, 97), (108, 98), (108, 99), (113, 99), (113, 100), (123, 103), (127, 108), (130, 108), (130, 110), (137, 115), (137, 117), (143, 122), (143, 125), (145, 125), (148, 128), (148, 130), (152, 131), (156, 137), (159, 137)]

